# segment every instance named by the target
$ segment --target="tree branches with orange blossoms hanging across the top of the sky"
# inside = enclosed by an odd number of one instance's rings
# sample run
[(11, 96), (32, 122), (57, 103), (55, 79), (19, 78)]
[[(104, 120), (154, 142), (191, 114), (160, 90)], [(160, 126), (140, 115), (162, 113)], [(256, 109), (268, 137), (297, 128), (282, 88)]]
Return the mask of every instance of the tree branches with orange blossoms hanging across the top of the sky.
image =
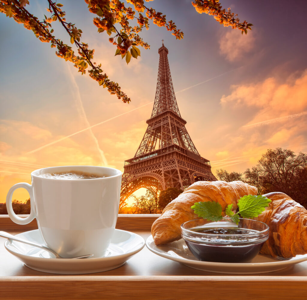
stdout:
[[(62, 4), (56, 1), (46, 0), (49, 8), (47, 11), (51, 14), (49, 17), (44, 15), (43, 21), (33, 16), (26, 8), (29, 5), (29, 0), (0, 0), (0, 12), (6, 14), (17, 22), (23, 23), (26, 29), (32, 30), (35, 36), (41, 41), (50, 43), (50, 46), (57, 47), (56, 55), (70, 61), (78, 69), (81, 74), (86, 73), (88, 70), (89, 76), (96, 80), (100, 86), (107, 88), (111, 94), (117, 95), (118, 99), (122, 99), (124, 103), (130, 102), (130, 98), (121, 91), (118, 83), (108, 79), (106, 73), (103, 73), (101, 64), (96, 64), (94, 61), (94, 49), (88, 49), (88, 44), (81, 42), (82, 30), (77, 29), (75, 24), (67, 22), (65, 19), (65, 12), (62, 10)], [(153, 0), (146, 0), (146, 2)], [(126, 0), (131, 6), (119, 0), (85, 0), (88, 4), (88, 10), (95, 14), (93, 19), (94, 25), (98, 28), (99, 33), (107, 33), (109, 42), (116, 46), (115, 55), (125, 57), (126, 63), (130, 62), (131, 57), (138, 58), (141, 52), (136, 46), (141, 46), (144, 49), (150, 48), (146, 42), (139, 36), (139, 32), (143, 28), (149, 29), (149, 19), (157, 26), (165, 27), (167, 30), (172, 31), (176, 39), (183, 38), (183, 32), (177, 29), (175, 23), (170, 20), (166, 21), (166, 16), (157, 12), (152, 7), (144, 5), (143, 0)], [(192, 5), (200, 14), (206, 13), (212, 15), (217, 21), (224, 26), (231, 26), (238, 28), (245, 34), (247, 29), (251, 30), (252, 24), (247, 21), (239, 22), (231, 13), (230, 8), (226, 11), (222, 10), (219, 0), (194, 0)], [(135, 10), (133, 10), (133, 8)], [(145, 15), (143, 14), (146, 12)], [(138, 16), (136, 15), (138, 13)], [(136, 20), (136, 26), (130, 25), (129, 20)], [(71, 46), (56, 38), (53, 34), (51, 23), (59, 21), (64, 27), (70, 37), (70, 43), (75, 45), (79, 55), (75, 55)]]

